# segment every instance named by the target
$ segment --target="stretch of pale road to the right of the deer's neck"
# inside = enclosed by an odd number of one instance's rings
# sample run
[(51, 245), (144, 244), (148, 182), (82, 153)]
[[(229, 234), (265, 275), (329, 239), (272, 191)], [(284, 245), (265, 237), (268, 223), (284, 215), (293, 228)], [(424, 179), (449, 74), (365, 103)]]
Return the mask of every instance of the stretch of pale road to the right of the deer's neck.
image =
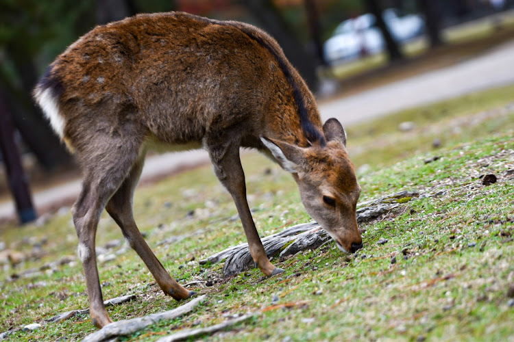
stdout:
[(355, 124), (401, 109), (514, 83), (514, 40), (460, 64), (319, 106), (323, 120)]

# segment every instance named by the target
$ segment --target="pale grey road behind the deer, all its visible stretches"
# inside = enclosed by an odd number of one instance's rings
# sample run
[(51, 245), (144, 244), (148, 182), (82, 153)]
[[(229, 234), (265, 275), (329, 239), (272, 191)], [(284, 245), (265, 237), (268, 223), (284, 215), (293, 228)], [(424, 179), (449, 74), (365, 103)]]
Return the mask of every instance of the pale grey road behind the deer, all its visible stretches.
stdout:
[[(333, 117), (343, 125), (356, 124), (401, 109), (508, 84), (514, 84), (514, 40), (453, 66), (323, 103), (319, 105), (319, 110), (323, 120)], [(141, 181), (207, 162), (208, 155), (204, 150), (152, 156), (147, 158)], [(34, 194), (36, 209), (42, 213), (73, 202), (79, 190), (80, 182), (73, 181), (38, 192)], [(14, 204), (1, 204), (0, 222), (13, 218)]]

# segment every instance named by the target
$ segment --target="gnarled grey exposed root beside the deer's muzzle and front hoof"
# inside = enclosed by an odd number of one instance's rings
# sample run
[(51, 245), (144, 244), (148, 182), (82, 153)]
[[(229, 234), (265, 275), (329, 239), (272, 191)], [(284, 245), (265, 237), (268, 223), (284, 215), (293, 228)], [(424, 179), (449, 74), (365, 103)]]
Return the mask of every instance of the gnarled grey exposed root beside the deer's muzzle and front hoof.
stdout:
[[(419, 196), (418, 192), (404, 191), (378, 200), (361, 203), (360, 205), (364, 205), (364, 207), (357, 209), (357, 222), (363, 224), (379, 218), (417, 196)], [(276, 255), (286, 257), (302, 250), (315, 250), (329, 240), (330, 235), (323, 231), (317, 222), (310, 222), (297, 224), (284, 229), (280, 233), (269, 235), (262, 239), (262, 245), (269, 258)], [(225, 260), (223, 276), (232, 276), (254, 267), (254, 260), (249, 252), (248, 244), (227, 248), (199, 261), (199, 263), (204, 265), (206, 263), (219, 263), (223, 260)]]

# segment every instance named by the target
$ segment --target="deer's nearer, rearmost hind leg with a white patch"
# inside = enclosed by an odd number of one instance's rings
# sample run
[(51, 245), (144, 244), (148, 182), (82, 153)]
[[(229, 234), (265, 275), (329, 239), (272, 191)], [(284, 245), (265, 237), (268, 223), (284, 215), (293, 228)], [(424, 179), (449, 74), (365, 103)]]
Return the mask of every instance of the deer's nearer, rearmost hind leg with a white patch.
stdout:
[(138, 160), (140, 142), (106, 139), (88, 140), (77, 150), (82, 164), (82, 191), (73, 205), (73, 223), (79, 240), (78, 254), (84, 267), (91, 319), (101, 328), (111, 323), (103, 305), (97, 269), (95, 237), (101, 212)]

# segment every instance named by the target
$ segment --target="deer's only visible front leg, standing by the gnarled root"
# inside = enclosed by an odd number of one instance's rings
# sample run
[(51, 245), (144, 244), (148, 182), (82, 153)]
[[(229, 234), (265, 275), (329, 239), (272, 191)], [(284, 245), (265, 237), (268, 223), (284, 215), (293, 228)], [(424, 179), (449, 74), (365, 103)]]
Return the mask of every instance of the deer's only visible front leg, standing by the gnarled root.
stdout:
[(245, 174), (239, 158), (238, 144), (208, 144), (208, 151), (216, 176), (234, 199), (254, 262), (266, 276), (283, 272), (283, 269), (271, 264), (257, 233), (246, 198)]

